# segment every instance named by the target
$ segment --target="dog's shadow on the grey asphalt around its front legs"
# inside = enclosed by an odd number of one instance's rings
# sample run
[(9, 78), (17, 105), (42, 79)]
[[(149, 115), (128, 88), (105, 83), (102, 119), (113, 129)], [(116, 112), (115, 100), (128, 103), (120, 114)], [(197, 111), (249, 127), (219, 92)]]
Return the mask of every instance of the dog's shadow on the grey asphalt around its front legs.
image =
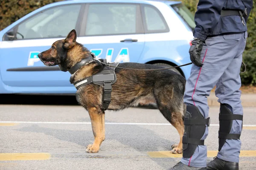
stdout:
[[(72, 142), (86, 147), (88, 144), (91, 144), (94, 141), (91, 125), (79, 126), (90, 126), (90, 130), (62, 130), (41, 127), (40, 125), (30, 125), (16, 130), (21, 132), (44, 133), (45, 135), (53, 136), (58, 140)], [(170, 130), (169, 132), (166, 132), (170, 133), (170, 135), (177, 133), (175, 128), (172, 126), (166, 126), (166, 128)], [(174, 129), (173, 132), (171, 128)], [(178, 133), (175, 134), (175, 137), (173, 138), (171, 136), (170, 139), (165, 139), (159, 136), (153, 130), (144, 128), (143, 125), (106, 125), (105, 130), (106, 139), (102, 143), (102, 146), (108, 147), (107, 143), (116, 141), (116, 144), (127, 145), (137, 151), (143, 152), (157, 151), (157, 146), (163, 150), (171, 150), (171, 145), (177, 143), (179, 139)], [(105, 150), (108, 149), (105, 148)]]

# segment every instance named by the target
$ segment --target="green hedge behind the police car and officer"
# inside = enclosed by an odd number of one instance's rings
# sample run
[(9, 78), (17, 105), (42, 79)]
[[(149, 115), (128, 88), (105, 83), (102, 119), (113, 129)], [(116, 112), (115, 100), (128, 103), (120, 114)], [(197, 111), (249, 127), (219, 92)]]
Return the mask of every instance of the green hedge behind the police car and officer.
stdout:
[[(0, 30), (6, 28), (19, 18), (41, 6), (61, 0), (0, 0)], [(179, 1), (179, 0), (178, 0)], [(197, 9), (198, 0), (182, 0), (192, 13)], [(253, 10), (247, 21), (248, 38), (243, 55), (247, 66), (246, 73), (241, 73), (243, 85), (256, 85), (256, 0), (253, 0)]]

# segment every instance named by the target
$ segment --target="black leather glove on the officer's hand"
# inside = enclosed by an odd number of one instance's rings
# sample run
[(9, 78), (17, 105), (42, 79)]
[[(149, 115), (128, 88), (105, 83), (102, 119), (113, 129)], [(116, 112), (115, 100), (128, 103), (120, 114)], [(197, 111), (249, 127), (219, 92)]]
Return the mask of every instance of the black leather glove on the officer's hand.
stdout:
[(198, 67), (202, 67), (204, 64), (201, 62), (201, 51), (204, 46), (204, 41), (200, 39), (195, 39), (192, 41), (192, 45), (189, 48), (190, 60), (193, 64)]

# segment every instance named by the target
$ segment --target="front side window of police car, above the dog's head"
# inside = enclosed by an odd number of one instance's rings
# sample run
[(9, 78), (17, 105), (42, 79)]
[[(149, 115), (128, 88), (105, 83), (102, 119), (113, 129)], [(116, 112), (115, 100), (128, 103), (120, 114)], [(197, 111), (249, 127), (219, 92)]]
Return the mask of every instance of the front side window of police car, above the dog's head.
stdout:
[(66, 37), (76, 27), (81, 5), (50, 8), (30, 17), (17, 28), (17, 39)]

